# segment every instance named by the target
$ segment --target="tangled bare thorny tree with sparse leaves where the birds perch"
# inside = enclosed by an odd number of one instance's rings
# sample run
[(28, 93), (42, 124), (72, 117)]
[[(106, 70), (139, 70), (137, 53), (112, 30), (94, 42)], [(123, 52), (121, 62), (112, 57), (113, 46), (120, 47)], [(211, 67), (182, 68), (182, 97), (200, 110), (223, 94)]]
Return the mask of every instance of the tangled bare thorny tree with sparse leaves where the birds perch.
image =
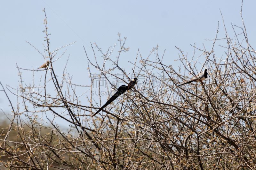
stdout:
[[(78, 85), (66, 69), (62, 75), (55, 72), (54, 63), (65, 54), (57, 52), (66, 46), (50, 50), (45, 14), (47, 55), (38, 50), (45, 61), (46, 56), (50, 60), (41, 70), (44, 77), (39, 83), (32, 78), (24, 85), (20, 74), (17, 89), (1, 84), (7, 99), (9, 91), (19, 102), (13, 106), (9, 100), (13, 115), (1, 132), (0, 165), (17, 169), (254, 169), (255, 50), (243, 18), (241, 27), (232, 25), (234, 36), (229, 36), (224, 19), (223, 26), (226, 35), (218, 38), (223, 36), (218, 35), (218, 25), (216, 37), (208, 40), (211, 47), (191, 45), (192, 58), (177, 47), (179, 71), (163, 62), (164, 52), (159, 55), (156, 46), (147, 57), (138, 51), (127, 72), (120, 58), (129, 48), (120, 34), (119, 44), (106, 52), (91, 44), (92, 54), (84, 48), (90, 84)], [(204, 82), (177, 87), (204, 68), (209, 70)], [(139, 82), (131, 91), (89, 119), (120, 83), (128, 84), (132, 77)], [(87, 101), (81, 101), (83, 94), (77, 88), (90, 93)], [(67, 122), (68, 131), (56, 120)]]

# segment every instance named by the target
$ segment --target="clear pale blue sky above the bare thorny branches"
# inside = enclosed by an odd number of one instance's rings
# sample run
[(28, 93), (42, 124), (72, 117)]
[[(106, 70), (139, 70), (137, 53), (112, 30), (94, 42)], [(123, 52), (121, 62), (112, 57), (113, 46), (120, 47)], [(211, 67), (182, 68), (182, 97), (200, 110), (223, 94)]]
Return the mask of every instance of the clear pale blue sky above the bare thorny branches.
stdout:
[[(252, 47), (255, 47), (256, 42), (255, 6), (256, 1), (244, 1), (243, 4), (243, 18)], [(122, 37), (127, 37), (126, 47), (130, 47), (129, 52), (123, 55), (123, 63), (120, 63), (122, 67), (131, 67), (127, 61), (134, 61), (138, 49), (143, 56), (147, 56), (157, 44), (161, 53), (166, 49), (165, 62), (178, 66), (180, 63), (175, 63), (174, 60), (178, 59), (179, 51), (174, 46), (192, 56), (194, 49), (189, 44), (196, 43), (200, 46), (202, 43), (209, 43), (205, 39), (214, 39), (218, 21), (218, 38), (225, 37), (220, 10), (228, 32), (233, 33), (231, 23), (242, 25), (239, 0), (2, 1), (0, 81), (4, 86), (17, 88), (19, 77), (16, 63), (27, 69), (37, 68), (44, 63), (42, 56), (25, 42), (30, 42), (43, 52), (44, 8), (48, 18), (48, 31), (51, 33), (51, 49), (77, 41), (67, 48), (66, 55), (55, 67), (62, 71), (67, 56), (70, 55), (67, 70), (73, 74), (75, 83), (83, 85), (87, 85), (88, 78), (83, 45), (90, 51), (90, 42), (96, 41), (105, 51), (118, 43), (117, 33), (121, 33)], [(209, 45), (208, 48), (210, 47)], [(32, 83), (31, 72), (22, 71), (22, 74), (26, 84)], [(43, 72), (39, 74), (44, 75)], [(16, 98), (8, 94), (15, 104)], [(7, 98), (0, 91), (0, 108), (8, 112), (8, 105)]]

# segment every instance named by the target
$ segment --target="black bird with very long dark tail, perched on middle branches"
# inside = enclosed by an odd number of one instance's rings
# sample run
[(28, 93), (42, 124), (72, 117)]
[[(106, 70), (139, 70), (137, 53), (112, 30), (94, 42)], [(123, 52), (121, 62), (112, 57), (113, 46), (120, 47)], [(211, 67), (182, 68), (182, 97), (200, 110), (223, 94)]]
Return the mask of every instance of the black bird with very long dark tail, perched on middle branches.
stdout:
[(136, 84), (136, 81), (138, 79), (137, 78), (133, 78), (132, 81), (128, 84), (128, 85), (121, 85), (118, 89), (117, 89), (117, 92), (102, 106), (100, 107), (100, 109), (94, 113), (91, 118), (93, 116), (95, 116), (97, 113), (99, 113), (102, 109), (104, 109), (105, 107), (107, 107), (112, 101), (116, 100), (116, 98), (118, 96), (120, 96), (121, 94), (123, 94), (125, 91), (127, 90), (130, 90), (135, 84)]

